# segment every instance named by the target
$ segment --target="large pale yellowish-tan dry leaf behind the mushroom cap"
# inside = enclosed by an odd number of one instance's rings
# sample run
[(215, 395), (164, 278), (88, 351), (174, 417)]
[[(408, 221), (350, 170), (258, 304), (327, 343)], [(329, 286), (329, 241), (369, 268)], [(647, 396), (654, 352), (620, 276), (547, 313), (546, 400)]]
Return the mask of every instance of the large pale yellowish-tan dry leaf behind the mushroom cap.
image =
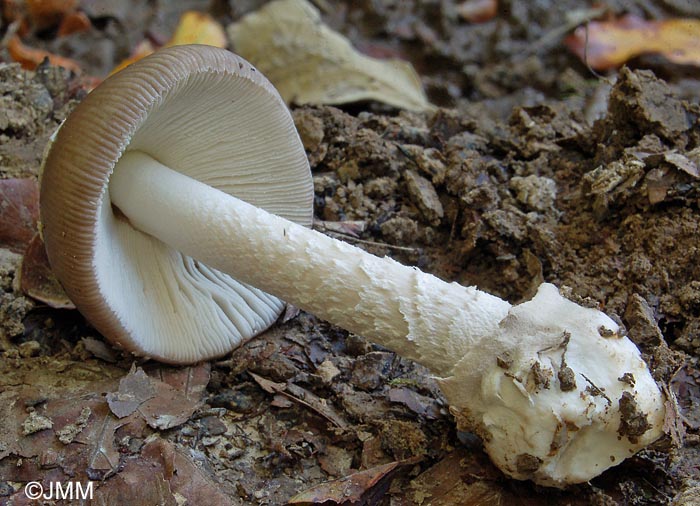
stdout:
[(258, 67), (287, 103), (377, 100), (412, 111), (431, 108), (409, 63), (358, 53), (306, 0), (270, 2), (231, 25), (229, 37), (234, 51)]

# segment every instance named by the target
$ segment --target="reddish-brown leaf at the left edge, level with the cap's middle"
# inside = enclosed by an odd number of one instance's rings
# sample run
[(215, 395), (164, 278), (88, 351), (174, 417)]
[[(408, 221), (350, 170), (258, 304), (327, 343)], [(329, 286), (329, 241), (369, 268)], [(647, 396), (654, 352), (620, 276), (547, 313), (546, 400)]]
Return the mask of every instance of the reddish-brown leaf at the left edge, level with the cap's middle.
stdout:
[(22, 253), (36, 233), (38, 219), (36, 179), (0, 180), (0, 247)]

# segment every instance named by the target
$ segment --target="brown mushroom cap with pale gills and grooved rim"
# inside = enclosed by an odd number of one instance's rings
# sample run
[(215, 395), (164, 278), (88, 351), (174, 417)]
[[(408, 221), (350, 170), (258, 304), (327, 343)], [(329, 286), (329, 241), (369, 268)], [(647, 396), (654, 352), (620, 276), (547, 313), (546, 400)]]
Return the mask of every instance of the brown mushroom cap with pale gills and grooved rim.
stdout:
[(40, 204), (56, 276), (118, 346), (191, 363), (274, 323), (282, 301), (134, 229), (113, 209), (110, 176), (129, 150), (309, 226), (308, 160), (273, 86), (210, 46), (170, 47), (134, 63), (93, 90), (57, 132)]

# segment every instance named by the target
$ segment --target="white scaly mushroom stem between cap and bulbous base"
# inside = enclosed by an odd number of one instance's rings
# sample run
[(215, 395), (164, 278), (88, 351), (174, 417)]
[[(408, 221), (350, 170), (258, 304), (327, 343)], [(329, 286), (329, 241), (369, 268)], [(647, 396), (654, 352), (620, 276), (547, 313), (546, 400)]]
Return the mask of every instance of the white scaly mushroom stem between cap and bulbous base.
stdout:
[(447, 376), (510, 304), (297, 225), (126, 153), (112, 203), (137, 229)]

